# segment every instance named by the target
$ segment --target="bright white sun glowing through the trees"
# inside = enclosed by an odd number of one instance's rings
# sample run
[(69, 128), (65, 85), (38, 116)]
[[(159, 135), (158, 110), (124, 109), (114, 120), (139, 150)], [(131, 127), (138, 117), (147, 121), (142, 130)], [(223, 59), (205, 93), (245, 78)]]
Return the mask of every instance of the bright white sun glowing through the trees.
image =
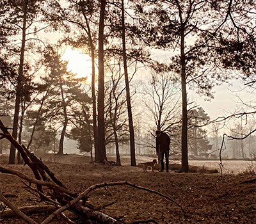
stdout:
[(92, 81), (92, 59), (88, 54), (68, 47), (61, 59), (68, 61), (68, 70), (75, 73), (77, 77), (87, 77), (88, 82)]

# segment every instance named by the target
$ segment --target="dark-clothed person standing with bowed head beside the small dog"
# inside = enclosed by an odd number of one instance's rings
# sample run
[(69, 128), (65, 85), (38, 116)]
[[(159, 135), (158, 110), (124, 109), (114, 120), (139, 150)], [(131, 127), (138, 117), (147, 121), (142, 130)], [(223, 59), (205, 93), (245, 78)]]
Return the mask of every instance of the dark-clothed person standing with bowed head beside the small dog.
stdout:
[(161, 170), (164, 171), (164, 155), (166, 161), (166, 172), (169, 172), (169, 150), (170, 150), (170, 137), (163, 131), (156, 131), (156, 154), (159, 155), (161, 161)]

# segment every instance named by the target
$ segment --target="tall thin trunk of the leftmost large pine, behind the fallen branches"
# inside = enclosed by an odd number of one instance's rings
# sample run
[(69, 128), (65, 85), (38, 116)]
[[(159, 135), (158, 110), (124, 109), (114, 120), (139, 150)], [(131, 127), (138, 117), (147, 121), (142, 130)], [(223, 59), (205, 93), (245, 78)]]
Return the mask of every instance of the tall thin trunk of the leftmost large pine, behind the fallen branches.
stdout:
[[(16, 91), (15, 110), (14, 110), (14, 117), (13, 117), (12, 136), (15, 140), (17, 140), (17, 133), (18, 133), (20, 97), (21, 97), (21, 89), (22, 89), (22, 76), (23, 76), (24, 54), (25, 54), (25, 44), (26, 44), (27, 12), (28, 12), (28, 0), (25, 0), (24, 1), (23, 26), (22, 26), (22, 43), (21, 43), (21, 49), (20, 49), (19, 76), (17, 78), (18, 79), (17, 80), (17, 91)], [(9, 164), (15, 163), (15, 151), (16, 151), (15, 147), (13, 145), (11, 145)]]

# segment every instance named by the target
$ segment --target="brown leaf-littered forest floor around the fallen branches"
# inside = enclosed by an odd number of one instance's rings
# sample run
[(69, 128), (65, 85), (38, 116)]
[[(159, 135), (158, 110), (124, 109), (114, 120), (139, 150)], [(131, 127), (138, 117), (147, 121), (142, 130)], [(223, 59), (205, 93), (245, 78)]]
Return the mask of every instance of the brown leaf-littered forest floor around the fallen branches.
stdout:
[[(225, 175), (221, 178), (218, 173), (145, 173), (140, 167), (93, 164), (89, 163), (90, 158), (75, 155), (58, 157), (55, 163), (47, 160), (51, 159), (43, 159), (56, 177), (73, 191), (82, 192), (100, 182), (127, 180), (170, 196), (186, 211), (186, 214), (182, 213), (177, 205), (166, 198), (129, 186), (107, 187), (90, 193), (88, 200), (95, 206), (115, 202), (101, 211), (124, 223), (143, 223), (147, 220), (155, 221), (151, 223), (177, 224), (255, 223), (255, 182), (244, 182), (255, 178), (252, 175)], [(32, 176), (28, 166), (8, 165), (8, 168)], [(1, 173), (0, 182), (4, 195), (13, 204), (42, 204), (24, 189), (18, 177)], [(31, 216), (38, 222), (45, 217), (42, 214)], [(0, 221), (3, 224), (24, 223), (18, 218)], [(55, 220), (54, 223), (65, 221)]]

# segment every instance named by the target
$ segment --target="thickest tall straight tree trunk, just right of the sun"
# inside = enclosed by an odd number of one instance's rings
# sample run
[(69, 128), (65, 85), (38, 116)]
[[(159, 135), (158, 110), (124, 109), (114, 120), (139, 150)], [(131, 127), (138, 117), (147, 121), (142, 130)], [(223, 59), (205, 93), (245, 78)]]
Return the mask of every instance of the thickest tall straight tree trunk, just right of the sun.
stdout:
[(99, 23), (99, 96), (98, 96), (98, 155), (97, 162), (103, 163), (107, 159), (105, 148), (104, 124), (104, 17), (106, 0), (100, 1)]

